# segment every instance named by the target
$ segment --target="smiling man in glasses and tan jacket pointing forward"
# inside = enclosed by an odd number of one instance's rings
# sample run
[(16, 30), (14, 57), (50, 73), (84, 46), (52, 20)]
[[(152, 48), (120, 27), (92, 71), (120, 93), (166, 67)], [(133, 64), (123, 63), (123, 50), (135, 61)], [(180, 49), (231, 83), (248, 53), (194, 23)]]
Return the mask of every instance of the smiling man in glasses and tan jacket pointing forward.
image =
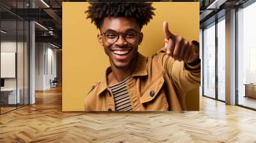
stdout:
[(99, 29), (110, 66), (86, 96), (86, 111), (186, 110), (186, 92), (200, 85), (198, 42), (173, 35), (163, 22), (164, 47), (141, 55), (141, 29), (154, 10), (152, 3), (90, 3), (87, 19)]

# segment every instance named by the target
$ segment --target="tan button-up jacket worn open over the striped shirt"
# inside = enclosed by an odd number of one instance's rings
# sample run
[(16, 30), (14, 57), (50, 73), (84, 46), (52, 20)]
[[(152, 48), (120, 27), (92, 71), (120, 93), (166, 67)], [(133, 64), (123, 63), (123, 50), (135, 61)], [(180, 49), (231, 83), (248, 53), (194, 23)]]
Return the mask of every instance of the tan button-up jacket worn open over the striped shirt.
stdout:
[[(186, 92), (200, 85), (200, 63), (191, 66), (174, 61), (165, 52), (163, 48), (152, 57), (138, 53), (136, 68), (126, 84), (132, 110), (186, 110)], [(86, 96), (86, 111), (115, 111), (113, 94), (107, 84), (110, 72), (109, 67)]]

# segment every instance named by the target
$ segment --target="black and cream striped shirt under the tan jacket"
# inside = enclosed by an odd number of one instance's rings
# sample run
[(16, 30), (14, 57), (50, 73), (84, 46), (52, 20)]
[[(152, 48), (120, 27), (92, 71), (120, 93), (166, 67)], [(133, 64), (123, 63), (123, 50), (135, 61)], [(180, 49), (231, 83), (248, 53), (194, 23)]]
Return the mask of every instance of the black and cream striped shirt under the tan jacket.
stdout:
[(119, 82), (118, 84), (113, 84), (109, 86), (109, 89), (111, 89), (114, 96), (116, 111), (132, 110), (131, 100), (126, 87), (126, 82), (128, 81), (128, 79), (130, 79), (130, 77), (123, 80), (122, 82)]

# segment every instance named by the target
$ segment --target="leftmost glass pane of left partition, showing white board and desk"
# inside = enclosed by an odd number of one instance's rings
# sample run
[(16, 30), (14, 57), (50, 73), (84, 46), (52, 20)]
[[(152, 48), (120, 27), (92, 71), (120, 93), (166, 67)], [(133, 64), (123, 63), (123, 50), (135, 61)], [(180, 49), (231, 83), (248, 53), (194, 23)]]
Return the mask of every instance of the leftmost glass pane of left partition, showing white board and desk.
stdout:
[[(3, 32), (4, 31), (4, 32)], [(1, 114), (17, 108), (17, 21), (1, 21)], [(18, 96), (17, 96), (18, 95)]]

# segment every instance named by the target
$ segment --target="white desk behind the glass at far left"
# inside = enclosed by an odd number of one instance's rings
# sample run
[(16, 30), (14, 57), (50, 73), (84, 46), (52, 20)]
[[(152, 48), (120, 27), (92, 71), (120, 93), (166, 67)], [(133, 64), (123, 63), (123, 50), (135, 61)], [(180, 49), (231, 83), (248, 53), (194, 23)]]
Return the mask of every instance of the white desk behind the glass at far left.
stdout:
[(16, 101), (17, 103), (20, 103), (20, 89), (17, 88), (17, 91), (18, 94), (16, 98), (16, 88), (1, 89), (1, 100), (4, 102), (4, 104), (16, 104)]

